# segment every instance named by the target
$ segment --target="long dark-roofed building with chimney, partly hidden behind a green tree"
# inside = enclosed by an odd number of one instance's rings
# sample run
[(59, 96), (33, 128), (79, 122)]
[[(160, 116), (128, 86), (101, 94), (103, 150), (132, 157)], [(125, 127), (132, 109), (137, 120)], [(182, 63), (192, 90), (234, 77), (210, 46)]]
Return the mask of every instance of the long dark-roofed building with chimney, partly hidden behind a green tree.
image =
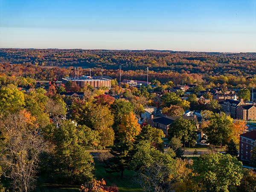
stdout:
[[(155, 127), (158, 129), (161, 129), (163, 133), (167, 136), (168, 135), (168, 129), (172, 122), (174, 122), (176, 119), (180, 118), (180, 116), (156, 116), (151, 115), (148, 119), (148, 124), (151, 125), (151, 127)], [(197, 122), (197, 119), (192, 116), (181, 116), (183, 119), (192, 119), (195, 122)]]

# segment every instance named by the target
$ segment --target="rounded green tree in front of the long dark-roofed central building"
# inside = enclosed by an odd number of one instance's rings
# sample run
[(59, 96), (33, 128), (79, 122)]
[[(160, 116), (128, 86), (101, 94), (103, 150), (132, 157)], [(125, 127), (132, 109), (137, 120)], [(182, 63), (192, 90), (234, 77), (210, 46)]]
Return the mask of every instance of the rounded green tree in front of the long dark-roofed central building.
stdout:
[(185, 143), (190, 143), (190, 145), (194, 146), (197, 139), (197, 135), (195, 133), (196, 128), (194, 120), (183, 119), (180, 117), (170, 125), (168, 136), (169, 138), (179, 138), (183, 145), (185, 145)]

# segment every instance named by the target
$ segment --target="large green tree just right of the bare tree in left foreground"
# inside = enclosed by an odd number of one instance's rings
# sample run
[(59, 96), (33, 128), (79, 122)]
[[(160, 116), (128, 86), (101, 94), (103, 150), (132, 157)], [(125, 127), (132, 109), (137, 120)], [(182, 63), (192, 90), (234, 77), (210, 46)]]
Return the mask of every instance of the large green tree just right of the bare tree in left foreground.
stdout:
[(82, 183), (93, 178), (93, 157), (85, 147), (91, 138), (86, 137), (85, 126), (76, 127), (70, 120), (64, 120), (58, 127), (48, 126), (43, 131), (54, 148), (47, 167), (51, 178), (61, 183)]

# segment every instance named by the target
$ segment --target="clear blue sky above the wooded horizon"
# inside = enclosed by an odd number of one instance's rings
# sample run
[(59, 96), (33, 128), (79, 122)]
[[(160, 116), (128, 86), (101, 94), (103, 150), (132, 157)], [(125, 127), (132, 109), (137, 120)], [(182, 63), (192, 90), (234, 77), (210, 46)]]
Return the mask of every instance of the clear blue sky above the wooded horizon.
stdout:
[(256, 52), (256, 0), (0, 0), (0, 47)]

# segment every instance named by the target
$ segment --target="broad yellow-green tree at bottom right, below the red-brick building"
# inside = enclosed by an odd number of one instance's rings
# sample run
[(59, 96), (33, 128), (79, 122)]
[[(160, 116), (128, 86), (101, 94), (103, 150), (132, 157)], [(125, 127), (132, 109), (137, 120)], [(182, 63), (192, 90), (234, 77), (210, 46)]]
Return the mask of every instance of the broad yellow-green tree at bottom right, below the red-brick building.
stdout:
[(200, 192), (229, 192), (238, 186), (243, 176), (242, 163), (230, 154), (207, 154), (193, 163), (195, 174), (192, 178)]

